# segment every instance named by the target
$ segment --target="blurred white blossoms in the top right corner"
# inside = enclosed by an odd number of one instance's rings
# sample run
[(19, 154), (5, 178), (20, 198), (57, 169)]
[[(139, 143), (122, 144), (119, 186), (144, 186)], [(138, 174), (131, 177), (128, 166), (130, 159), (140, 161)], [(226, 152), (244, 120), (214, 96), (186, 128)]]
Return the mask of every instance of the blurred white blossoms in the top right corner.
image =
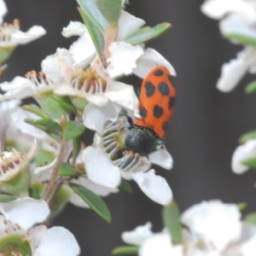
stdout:
[[(246, 0), (207, 0), (201, 10), (213, 19), (222, 19), (219, 23), (224, 36), (236, 36), (256, 40), (256, 3)], [(237, 43), (236, 39), (232, 39)], [(224, 64), (217, 88), (229, 92), (236, 87), (247, 73), (256, 73), (256, 49), (246, 46), (237, 54), (236, 59)]]

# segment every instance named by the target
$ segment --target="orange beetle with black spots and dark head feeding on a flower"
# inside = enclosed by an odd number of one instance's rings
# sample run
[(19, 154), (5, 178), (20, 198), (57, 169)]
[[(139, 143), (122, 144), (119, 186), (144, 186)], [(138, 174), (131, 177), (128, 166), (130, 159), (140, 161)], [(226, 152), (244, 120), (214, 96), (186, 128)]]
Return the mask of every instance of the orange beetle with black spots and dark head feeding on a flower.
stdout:
[(131, 131), (125, 137), (125, 149), (148, 155), (162, 148), (175, 102), (171, 73), (166, 67), (154, 67), (141, 87), (138, 108), (142, 119), (127, 117)]

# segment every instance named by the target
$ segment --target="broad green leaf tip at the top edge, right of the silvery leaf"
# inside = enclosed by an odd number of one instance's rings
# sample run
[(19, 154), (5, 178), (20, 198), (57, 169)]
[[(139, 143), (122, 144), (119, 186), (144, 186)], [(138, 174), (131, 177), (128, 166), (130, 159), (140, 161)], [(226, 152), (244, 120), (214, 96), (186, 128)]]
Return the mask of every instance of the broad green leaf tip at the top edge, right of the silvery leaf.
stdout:
[(117, 25), (122, 9), (122, 0), (96, 0), (96, 5), (110, 25)]

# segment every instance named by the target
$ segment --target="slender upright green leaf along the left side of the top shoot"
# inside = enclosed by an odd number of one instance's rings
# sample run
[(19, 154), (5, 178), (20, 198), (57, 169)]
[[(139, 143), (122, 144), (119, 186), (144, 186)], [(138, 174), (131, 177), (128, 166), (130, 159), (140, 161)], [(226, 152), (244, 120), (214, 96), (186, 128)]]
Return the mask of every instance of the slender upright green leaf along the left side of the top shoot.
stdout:
[(87, 26), (88, 31), (90, 33), (90, 38), (96, 48), (96, 52), (98, 55), (103, 59), (103, 51), (104, 51), (104, 37), (99, 29), (98, 26), (93, 22), (93, 20), (90, 20), (90, 17), (84, 14), (83, 9), (79, 9), (79, 14), (82, 17), (82, 20), (84, 21), (84, 24)]

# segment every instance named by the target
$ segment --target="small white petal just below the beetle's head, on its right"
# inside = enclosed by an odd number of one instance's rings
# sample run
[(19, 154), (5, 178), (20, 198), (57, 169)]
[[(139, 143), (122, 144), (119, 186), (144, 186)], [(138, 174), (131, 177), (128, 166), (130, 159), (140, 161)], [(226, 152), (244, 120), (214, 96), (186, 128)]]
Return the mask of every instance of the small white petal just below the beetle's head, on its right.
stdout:
[(148, 155), (149, 160), (157, 165), (161, 166), (167, 170), (171, 170), (173, 166), (172, 155), (166, 150), (166, 148), (161, 148), (154, 151)]

